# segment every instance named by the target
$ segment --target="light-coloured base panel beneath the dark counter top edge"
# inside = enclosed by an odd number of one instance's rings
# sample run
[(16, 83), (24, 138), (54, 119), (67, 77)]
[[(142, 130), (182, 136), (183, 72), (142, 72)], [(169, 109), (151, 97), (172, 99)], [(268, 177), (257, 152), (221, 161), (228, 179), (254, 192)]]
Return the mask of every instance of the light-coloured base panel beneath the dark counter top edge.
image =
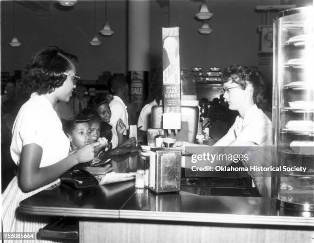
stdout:
[(149, 221), (80, 221), (80, 242), (224, 242), (265, 243), (303, 242), (312, 243), (313, 229), (282, 229), (232, 227), (223, 224), (202, 226), (193, 224), (174, 225), (169, 222)]

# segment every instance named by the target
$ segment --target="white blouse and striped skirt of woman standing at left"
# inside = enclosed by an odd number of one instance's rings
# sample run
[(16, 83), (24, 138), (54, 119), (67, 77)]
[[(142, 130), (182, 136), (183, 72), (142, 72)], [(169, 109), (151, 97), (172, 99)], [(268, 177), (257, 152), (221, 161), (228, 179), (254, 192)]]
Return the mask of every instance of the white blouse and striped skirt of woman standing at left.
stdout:
[[(40, 167), (52, 165), (68, 156), (70, 142), (62, 130), (62, 123), (51, 103), (44, 96), (32, 94), (31, 98), (21, 107), (13, 125), (11, 156), (19, 165), (22, 147), (35, 143), (43, 148)], [(18, 186), (15, 176), (2, 195), (3, 232), (38, 232), (49, 219), (46, 216), (26, 215), (18, 212), (19, 202), (50, 188), (60, 179), (37, 190), (24, 193)], [(10, 243), (14, 240), (8, 241)], [(21, 243), (23, 240), (16, 240)], [(30, 242), (26, 240), (25, 242)], [(41, 240), (35, 242), (49, 242)]]

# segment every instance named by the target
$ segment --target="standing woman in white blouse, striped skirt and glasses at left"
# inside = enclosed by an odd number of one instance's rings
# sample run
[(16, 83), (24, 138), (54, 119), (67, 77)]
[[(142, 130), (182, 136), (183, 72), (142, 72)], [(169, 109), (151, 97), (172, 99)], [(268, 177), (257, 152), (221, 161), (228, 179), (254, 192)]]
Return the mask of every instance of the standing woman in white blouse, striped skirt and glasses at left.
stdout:
[(74, 165), (92, 160), (94, 146), (99, 145), (89, 144), (69, 154), (70, 142), (53, 109), (58, 100), (69, 101), (79, 78), (71, 57), (49, 47), (37, 52), (25, 68), (24, 84), (32, 95), (13, 125), (11, 156), (18, 173), (3, 193), (4, 232), (38, 232), (47, 225), (47, 217), (19, 213), (19, 202), (57, 184), (58, 177)]

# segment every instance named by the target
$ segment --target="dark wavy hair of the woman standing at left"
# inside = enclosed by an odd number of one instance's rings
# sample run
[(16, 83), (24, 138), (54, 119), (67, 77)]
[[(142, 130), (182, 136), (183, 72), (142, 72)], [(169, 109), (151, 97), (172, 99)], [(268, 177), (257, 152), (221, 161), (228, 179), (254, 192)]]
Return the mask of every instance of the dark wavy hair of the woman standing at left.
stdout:
[(44, 95), (62, 86), (67, 79), (64, 72), (74, 65), (73, 57), (57, 47), (47, 47), (35, 53), (24, 70), (23, 86), (26, 91)]

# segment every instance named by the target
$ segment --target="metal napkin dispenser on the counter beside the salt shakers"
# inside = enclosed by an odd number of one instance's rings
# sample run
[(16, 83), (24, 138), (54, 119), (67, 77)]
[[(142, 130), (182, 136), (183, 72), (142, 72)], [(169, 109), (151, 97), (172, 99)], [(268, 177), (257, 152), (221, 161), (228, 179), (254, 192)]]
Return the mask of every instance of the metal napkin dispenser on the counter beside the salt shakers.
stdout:
[(181, 186), (181, 150), (151, 148), (149, 189), (155, 193), (179, 192)]

